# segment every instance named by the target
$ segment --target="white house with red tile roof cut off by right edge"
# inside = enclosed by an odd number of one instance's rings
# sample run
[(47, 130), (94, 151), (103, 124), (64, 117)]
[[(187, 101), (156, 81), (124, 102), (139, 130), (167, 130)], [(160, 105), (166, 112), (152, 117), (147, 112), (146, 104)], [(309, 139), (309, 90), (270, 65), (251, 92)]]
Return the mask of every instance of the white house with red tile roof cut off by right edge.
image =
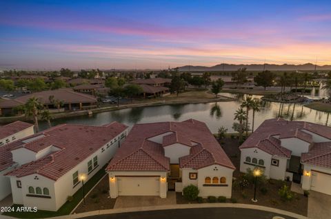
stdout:
[(240, 150), (241, 172), (259, 167), (267, 178), (331, 195), (331, 127), (268, 119)]

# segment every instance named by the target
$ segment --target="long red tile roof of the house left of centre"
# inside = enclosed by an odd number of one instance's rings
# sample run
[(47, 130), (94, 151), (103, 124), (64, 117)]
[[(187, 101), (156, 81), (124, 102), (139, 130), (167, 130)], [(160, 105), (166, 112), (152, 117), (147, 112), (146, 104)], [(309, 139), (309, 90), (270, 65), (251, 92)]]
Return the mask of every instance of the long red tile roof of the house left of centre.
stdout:
[[(40, 138), (35, 138), (30, 142), (28, 140), (31, 137), (15, 141), (10, 150), (26, 148), (37, 152), (49, 146), (54, 146), (59, 150), (37, 161), (21, 165), (6, 175), (21, 177), (38, 173), (57, 181), (63, 174), (72, 170), (126, 128), (128, 126), (117, 122), (112, 122), (106, 126), (63, 124), (33, 135), (32, 137), (39, 136)], [(12, 158), (10, 157), (8, 161), (12, 162)]]

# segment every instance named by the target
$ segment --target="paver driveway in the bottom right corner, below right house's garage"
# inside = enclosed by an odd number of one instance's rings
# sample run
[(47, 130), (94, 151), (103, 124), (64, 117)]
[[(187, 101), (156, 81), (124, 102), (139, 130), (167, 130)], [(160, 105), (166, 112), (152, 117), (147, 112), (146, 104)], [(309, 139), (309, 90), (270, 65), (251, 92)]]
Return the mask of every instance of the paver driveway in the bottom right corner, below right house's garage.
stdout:
[(308, 218), (331, 218), (331, 196), (310, 191), (308, 198)]

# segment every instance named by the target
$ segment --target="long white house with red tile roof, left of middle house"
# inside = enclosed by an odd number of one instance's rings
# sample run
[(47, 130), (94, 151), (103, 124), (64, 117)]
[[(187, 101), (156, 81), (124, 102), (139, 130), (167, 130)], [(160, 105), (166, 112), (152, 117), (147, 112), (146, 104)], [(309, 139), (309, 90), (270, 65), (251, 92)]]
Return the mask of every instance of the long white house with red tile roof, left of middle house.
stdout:
[(117, 151), (128, 127), (112, 122), (103, 126), (62, 124), (8, 146), (7, 162), (18, 168), (10, 178), (14, 204), (57, 211)]

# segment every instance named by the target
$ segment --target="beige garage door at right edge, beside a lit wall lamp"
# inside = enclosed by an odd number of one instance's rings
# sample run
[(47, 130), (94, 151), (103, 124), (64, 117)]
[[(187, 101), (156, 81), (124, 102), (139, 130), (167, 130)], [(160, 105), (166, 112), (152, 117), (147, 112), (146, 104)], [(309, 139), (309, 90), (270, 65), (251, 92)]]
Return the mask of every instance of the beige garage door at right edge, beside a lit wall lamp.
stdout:
[(312, 183), (310, 189), (331, 195), (331, 176), (321, 172), (312, 172)]

